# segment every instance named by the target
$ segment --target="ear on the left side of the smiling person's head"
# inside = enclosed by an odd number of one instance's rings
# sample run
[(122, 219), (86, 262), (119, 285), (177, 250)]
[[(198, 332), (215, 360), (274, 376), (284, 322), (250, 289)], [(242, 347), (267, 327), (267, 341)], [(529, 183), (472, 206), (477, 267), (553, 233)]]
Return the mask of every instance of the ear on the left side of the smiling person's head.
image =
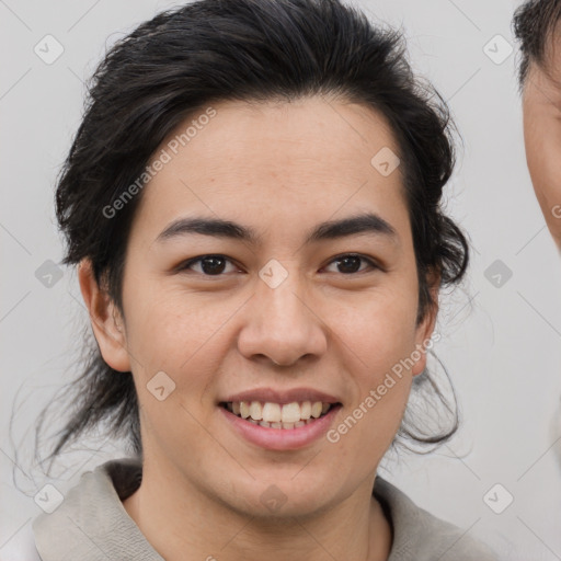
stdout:
[(103, 359), (115, 370), (130, 371), (123, 317), (107, 291), (98, 285), (89, 259), (78, 265), (78, 279)]

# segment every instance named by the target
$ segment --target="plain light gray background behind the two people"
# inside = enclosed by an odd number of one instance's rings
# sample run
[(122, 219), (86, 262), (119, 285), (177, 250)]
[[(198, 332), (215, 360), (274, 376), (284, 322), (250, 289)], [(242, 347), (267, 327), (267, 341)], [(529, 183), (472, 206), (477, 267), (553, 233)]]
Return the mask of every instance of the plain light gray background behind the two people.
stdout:
[[(473, 257), (463, 287), (443, 297), (443, 340), (436, 346), (460, 399), (461, 431), (437, 454), (390, 458), (380, 474), (486, 541), (504, 560), (556, 560), (561, 559), (561, 257), (526, 169), (511, 31), (518, 3), (354, 2), (374, 21), (403, 25), (414, 68), (450, 104), (463, 148), (446, 208), (469, 232)], [(88, 319), (72, 271), (62, 268), (50, 287), (35, 273), (62, 257), (53, 190), (80, 123), (82, 80), (106, 46), (172, 5), (0, 0), (0, 558), (1, 547), (41, 512), (33, 497), (45, 483), (64, 492), (84, 469), (122, 455), (117, 447), (95, 451), (95, 445), (90, 450), (84, 445), (65, 458), (68, 470), (56, 473), (60, 481), (32, 466), (35, 416), (72, 378)], [(64, 47), (51, 65), (34, 53), (47, 34)], [(515, 48), (501, 64), (484, 49), (497, 34)], [(502, 41), (491, 43), (499, 58), (507, 55)], [(493, 268), (485, 276), (496, 260), (494, 266), (512, 271), (499, 287), (491, 282)], [(496, 483), (502, 486), (489, 495)], [(513, 503), (495, 514), (489, 504), (500, 510), (506, 493)]]

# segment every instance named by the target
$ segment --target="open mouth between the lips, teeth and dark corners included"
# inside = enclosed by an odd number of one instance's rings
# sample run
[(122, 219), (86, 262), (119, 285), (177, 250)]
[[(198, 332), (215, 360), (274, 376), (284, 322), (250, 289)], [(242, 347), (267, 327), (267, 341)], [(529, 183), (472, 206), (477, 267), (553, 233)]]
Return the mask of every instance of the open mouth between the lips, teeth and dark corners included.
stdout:
[(221, 401), (219, 407), (248, 423), (264, 428), (290, 431), (313, 424), (341, 407), (340, 402), (293, 401), (290, 403), (262, 401)]

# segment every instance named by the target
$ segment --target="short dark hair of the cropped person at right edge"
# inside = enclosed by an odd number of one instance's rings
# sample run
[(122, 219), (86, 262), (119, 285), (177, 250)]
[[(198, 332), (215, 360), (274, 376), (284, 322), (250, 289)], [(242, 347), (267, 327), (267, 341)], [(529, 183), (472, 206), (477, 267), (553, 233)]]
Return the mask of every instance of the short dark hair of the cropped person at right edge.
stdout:
[(524, 87), (531, 64), (537, 64), (548, 76), (548, 45), (561, 16), (561, 0), (527, 0), (514, 12), (514, 35), (520, 43), (518, 85)]

